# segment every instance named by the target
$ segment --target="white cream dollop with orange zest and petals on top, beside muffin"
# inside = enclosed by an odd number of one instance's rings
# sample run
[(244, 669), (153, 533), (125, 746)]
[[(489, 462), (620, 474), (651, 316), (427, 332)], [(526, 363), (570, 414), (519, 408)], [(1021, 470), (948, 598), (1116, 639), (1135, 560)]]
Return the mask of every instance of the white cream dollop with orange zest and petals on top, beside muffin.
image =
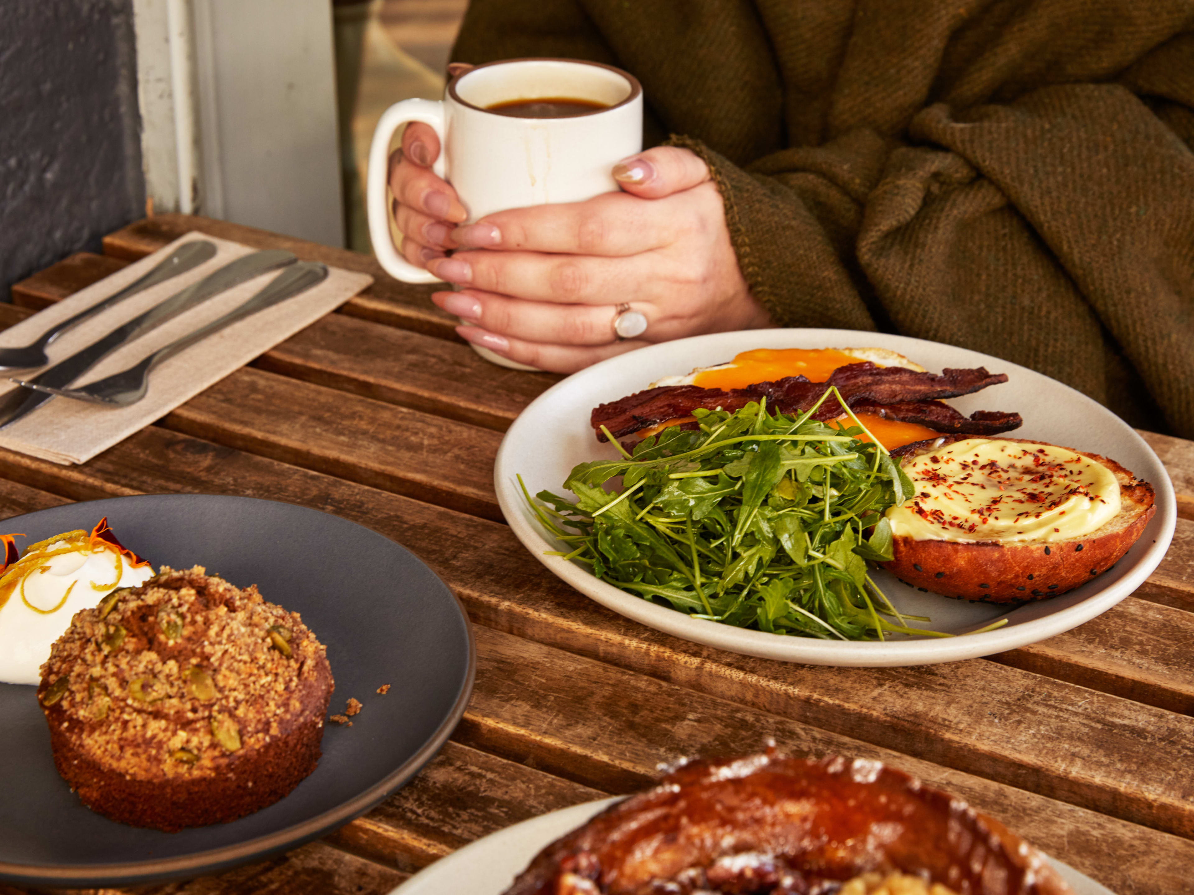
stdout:
[[(0, 681), (41, 683), (50, 647), (74, 613), (91, 609), (117, 587), (135, 587), (153, 575), (148, 563), (105, 539), (106, 520), (91, 535), (72, 531), (32, 544), (0, 575)], [(5, 536), (10, 555), (12, 537)], [(11, 556), (16, 560), (16, 556)]]

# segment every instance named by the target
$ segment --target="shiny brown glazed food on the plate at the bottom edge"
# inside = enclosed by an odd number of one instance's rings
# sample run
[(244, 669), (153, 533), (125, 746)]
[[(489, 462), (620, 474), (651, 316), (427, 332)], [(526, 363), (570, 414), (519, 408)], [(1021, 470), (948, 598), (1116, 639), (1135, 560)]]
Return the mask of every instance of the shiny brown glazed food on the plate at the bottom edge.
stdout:
[(831, 895), (872, 871), (1072, 895), (1002, 823), (901, 771), (770, 752), (684, 765), (549, 845), (506, 895)]

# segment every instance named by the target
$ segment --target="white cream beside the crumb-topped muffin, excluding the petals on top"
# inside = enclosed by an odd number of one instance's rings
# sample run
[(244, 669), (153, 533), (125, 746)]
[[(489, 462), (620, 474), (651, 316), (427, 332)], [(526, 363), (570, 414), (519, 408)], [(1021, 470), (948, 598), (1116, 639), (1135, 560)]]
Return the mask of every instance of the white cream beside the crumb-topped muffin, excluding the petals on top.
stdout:
[[(61, 544), (50, 544), (47, 551)], [(48, 557), (25, 578), (24, 592), (18, 587), (0, 606), (0, 681), (41, 683), (42, 663), (75, 612), (91, 609), (117, 587), (135, 587), (153, 576), (148, 566), (134, 568), (121, 560), (117, 581), (118, 560), (115, 550), (82, 547)], [(97, 588), (93, 584), (109, 586)]]

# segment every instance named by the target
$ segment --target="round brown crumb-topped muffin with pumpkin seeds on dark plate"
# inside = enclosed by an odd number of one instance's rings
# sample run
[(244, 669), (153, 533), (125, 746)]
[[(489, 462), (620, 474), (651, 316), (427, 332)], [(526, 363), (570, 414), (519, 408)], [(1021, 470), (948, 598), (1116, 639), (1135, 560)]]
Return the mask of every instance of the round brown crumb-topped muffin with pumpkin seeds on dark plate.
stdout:
[(76, 613), (42, 666), (59, 773), (88, 808), (139, 827), (259, 810), (315, 770), (326, 652), (256, 586), (162, 567)]

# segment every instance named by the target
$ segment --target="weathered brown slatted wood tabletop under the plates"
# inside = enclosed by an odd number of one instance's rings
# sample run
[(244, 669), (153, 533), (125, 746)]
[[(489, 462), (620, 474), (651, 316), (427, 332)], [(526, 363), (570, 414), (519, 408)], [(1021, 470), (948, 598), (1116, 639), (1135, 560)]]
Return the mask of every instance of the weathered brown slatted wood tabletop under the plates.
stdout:
[[(1165, 561), (1115, 609), (989, 659), (823, 668), (642, 628), (552, 576), (503, 524), (501, 432), (558, 377), (481, 360), (365, 255), (180, 215), (17, 285), (11, 325), (199, 229), (374, 274), (361, 296), (81, 467), (0, 451), (0, 517), (139, 493), (316, 507), (426, 561), (468, 609), (476, 687), (439, 755), (322, 840), (152, 891), (384, 893), (455, 848), (644, 788), (660, 763), (759, 749), (887, 761), (1120, 895), (1194, 891), (1194, 443), (1141, 433), (1178, 493)], [(0, 885), (0, 891), (18, 891)]]

